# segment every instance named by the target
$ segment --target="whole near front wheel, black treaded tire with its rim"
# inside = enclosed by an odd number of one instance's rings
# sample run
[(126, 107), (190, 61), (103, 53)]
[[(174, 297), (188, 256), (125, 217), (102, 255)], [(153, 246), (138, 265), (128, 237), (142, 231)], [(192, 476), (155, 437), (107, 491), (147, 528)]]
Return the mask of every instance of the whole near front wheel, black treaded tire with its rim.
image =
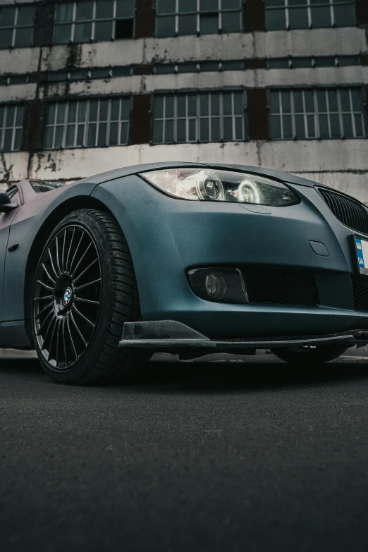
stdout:
[(140, 320), (128, 244), (111, 214), (66, 216), (35, 263), (30, 328), (45, 372), (61, 384), (132, 376), (149, 352), (118, 348), (126, 321)]

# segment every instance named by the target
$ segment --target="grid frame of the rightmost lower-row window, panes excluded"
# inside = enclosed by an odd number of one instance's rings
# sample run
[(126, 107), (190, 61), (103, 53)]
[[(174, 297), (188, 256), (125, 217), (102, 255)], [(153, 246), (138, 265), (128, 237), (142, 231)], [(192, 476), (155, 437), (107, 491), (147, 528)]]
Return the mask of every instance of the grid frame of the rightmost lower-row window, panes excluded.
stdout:
[[(329, 98), (328, 98), (328, 92), (329, 91), (335, 91), (336, 97), (337, 97), (337, 106), (338, 111), (333, 111), (330, 109), (329, 106)], [(341, 104), (341, 92), (348, 91), (349, 92), (349, 99), (350, 99), (350, 111), (346, 111), (342, 109)], [(357, 91), (360, 93), (360, 99), (361, 99), (361, 111), (355, 111), (352, 104), (352, 92)], [(278, 92), (278, 107), (280, 111), (278, 113), (272, 114), (271, 113), (271, 92)], [(281, 101), (281, 92), (289, 92), (290, 94), (290, 113), (283, 114), (282, 109), (282, 101)], [(312, 92), (313, 94), (313, 105), (314, 105), (314, 111), (313, 113), (310, 113), (309, 111), (306, 111), (303, 109), (302, 112), (295, 112), (295, 98), (294, 98), (294, 92), (303, 92), (303, 108), (305, 108), (305, 94), (304, 92)], [(318, 92), (325, 92), (326, 97), (326, 111), (321, 111), (319, 109), (318, 105)], [(364, 90), (361, 86), (325, 86), (325, 87), (271, 87), (267, 89), (267, 110), (268, 110), (268, 132), (269, 132), (269, 140), (274, 142), (286, 142), (290, 140), (365, 140), (368, 137), (368, 124), (367, 124), (367, 115), (365, 113), (364, 109), (364, 103), (365, 103), (365, 97), (364, 97)], [(304, 128), (305, 128), (305, 136), (304, 137), (298, 137), (295, 132), (295, 114), (298, 116), (303, 115), (304, 117)], [(331, 135), (331, 115), (338, 115), (338, 124), (340, 129), (340, 136), (332, 136)], [(352, 123), (352, 130), (353, 130), (353, 136), (346, 136), (344, 133), (344, 123), (343, 123), (343, 115), (349, 114), (351, 118)], [(283, 115), (290, 116), (291, 117), (291, 128), (292, 128), (292, 137), (283, 137)], [(308, 134), (308, 124), (307, 124), (307, 117), (313, 115), (314, 116), (314, 130), (315, 135), (314, 136), (307, 136)], [(327, 122), (329, 126), (329, 136), (321, 136), (321, 129), (320, 129), (320, 122), (319, 122), (319, 116), (327, 116)], [(362, 135), (357, 135), (356, 132), (356, 122), (355, 122), (355, 116), (360, 115), (361, 122), (362, 122)], [(278, 117), (280, 119), (280, 129), (281, 129), (281, 137), (274, 137), (272, 136), (272, 124), (271, 124), (271, 118), (272, 117)]]

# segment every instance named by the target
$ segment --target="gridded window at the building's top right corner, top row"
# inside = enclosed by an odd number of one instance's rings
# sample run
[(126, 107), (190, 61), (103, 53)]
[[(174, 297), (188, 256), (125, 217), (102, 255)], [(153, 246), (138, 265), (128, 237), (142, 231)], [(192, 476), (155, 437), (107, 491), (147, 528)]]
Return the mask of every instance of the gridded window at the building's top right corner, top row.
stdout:
[(355, 25), (354, 0), (264, 0), (266, 29)]

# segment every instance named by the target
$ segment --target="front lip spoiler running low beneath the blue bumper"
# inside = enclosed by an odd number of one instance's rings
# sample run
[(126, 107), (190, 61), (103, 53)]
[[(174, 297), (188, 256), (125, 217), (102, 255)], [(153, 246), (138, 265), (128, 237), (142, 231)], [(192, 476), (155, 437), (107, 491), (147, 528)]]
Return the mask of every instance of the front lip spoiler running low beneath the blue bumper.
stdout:
[(293, 345), (331, 345), (333, 343), (347, 343), (350, 346), (368, 343), (368, 331), (350, 331), (324, 336), (274, 336), (213, 340), (190, 326), (174, 320), (125, 322), (119, 347), (157, 350), (162, 348), (269, 349)]

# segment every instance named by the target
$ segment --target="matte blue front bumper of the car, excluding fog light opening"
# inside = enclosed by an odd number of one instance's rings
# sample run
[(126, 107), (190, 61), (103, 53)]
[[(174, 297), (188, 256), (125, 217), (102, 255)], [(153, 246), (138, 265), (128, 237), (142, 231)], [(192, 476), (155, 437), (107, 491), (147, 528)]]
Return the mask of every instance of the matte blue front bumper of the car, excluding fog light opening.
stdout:
[[(93, 195), (113, 211), (128, 240), (142, 321), (177, 321), (219, 342), (368, 329), (368, 312), (354, 309), (356, 233), (333, 216), (315, 188), (290, 188), (299, 204), (264, 213), (240, 204), (176, 200), (138, 176), (99, 185)], [(323, 244), (328, 255), (317, 254), (310, 242)], [(188, 283), (193, 268), (248, 265), (312, 272), (319, 305), (209, 302)]]

